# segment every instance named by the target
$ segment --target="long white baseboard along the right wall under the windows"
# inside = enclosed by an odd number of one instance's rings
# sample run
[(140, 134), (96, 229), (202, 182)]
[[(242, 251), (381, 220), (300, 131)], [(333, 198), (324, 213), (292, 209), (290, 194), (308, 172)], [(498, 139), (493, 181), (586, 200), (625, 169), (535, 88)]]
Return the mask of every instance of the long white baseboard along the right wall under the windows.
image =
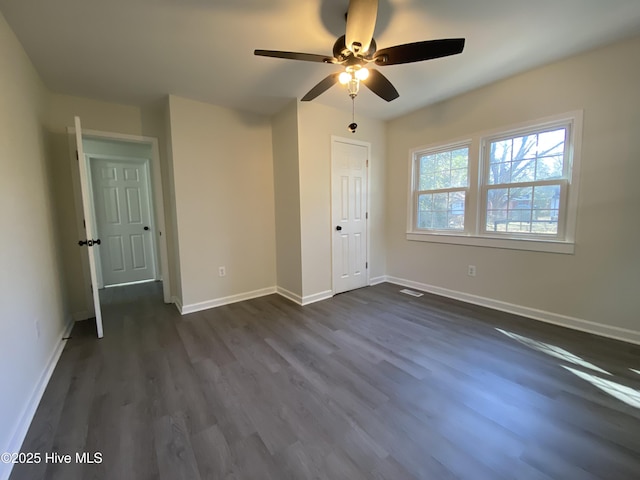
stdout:
[(582, 332), (593, 333), (602, 337), (613, 338), (615, 340), (622, 340), (623, 342), (640, 345), (640, 332), (635, 330), (614, 327), (611, 325), (603, 325), (601, 323), (591, 322), (589, 320), (583, 320), (581, 318), (570, 317), (568, 315), (561, 315), (558, 313), (547, 312), (545, 310), (523, 307), (521, 305), (515, 305), (513, 303), (507, 303), (500, 300), (494, 300), (492, 298), (471, 295), (469, 293), (459, 292), (456, 290), (449, 290), (447, 288), (436, 287), (434, 285), (428, 285), (426, 283), (414, 282), (412, 280), (407, 280), (404, 278), (386, 276), (384, 281), (394, 283), (396, 285), (401, 285), (403, 287), (415, 288), (416, 290), (433, 293), (442, 297), (453, 298), (462, 302), (472, 303), (474, 305), (480, 305), (482, 307), (488, 307), (494, 310), (500, 310), (502, 312), (513, 313), (515, 315), (532, 318), (541, 322), (552, 323), (561, 327), (580, 330)]

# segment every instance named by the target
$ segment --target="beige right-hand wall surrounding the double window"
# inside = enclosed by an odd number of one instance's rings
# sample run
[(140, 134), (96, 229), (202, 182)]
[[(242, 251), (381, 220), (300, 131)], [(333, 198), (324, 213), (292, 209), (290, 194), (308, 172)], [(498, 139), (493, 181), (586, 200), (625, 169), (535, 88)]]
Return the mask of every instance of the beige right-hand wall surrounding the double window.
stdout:
[[(640, 37), (389, 122), (387, 273), (613, 327), (609, 333), (639, 332), (638, 51)], [(584, 129), (575, 255), (406, 240), (409, 149), (578, 109)], [(477, 277), (466, 275), (468, 264)]]

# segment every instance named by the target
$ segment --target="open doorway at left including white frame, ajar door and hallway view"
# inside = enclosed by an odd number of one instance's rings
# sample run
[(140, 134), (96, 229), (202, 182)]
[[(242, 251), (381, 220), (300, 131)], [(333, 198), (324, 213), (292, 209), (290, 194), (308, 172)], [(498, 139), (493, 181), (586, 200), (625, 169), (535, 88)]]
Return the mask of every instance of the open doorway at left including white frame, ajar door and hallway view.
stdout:
[(147, 292), (171, 303), (158, 140), (82, 130), (79, 118), (69, 133), (76, 137), (70, 135), (79, 238), (90, 247), (82, 255), (83, 316), (95, 317), (101, 337), (101, 307), (114, 296)]

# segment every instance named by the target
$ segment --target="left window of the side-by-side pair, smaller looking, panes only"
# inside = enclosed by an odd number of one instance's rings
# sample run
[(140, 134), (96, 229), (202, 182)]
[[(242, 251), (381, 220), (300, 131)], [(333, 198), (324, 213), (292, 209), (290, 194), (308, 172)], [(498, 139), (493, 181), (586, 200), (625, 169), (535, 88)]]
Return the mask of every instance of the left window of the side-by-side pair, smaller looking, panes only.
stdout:
[(469, 186), (469, 147), (427, 150), (417, 154), (415, 204), (417, 228), (464, 230)]

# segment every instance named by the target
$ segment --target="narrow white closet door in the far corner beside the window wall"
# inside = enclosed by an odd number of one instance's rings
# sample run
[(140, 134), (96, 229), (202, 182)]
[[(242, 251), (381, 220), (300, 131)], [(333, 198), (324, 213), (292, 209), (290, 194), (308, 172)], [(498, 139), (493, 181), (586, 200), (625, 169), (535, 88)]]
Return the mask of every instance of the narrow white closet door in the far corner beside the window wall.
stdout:
[(332, 140), (333, 293), (368, 285), (369, 146)]

